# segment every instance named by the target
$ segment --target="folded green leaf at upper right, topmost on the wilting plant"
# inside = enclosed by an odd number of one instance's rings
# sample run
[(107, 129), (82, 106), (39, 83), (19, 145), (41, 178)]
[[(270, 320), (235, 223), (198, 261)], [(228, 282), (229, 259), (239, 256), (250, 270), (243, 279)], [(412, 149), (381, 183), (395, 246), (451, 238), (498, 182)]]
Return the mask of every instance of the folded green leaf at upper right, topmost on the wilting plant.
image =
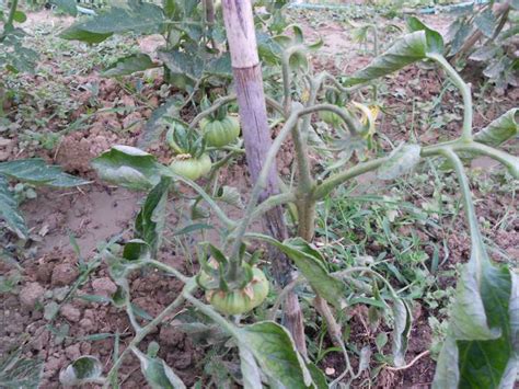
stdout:
[(438, 53), (437, 41), (435, 34), (428, 34), (425, 30), (404, 35), (388, 52), (374, 58), (370, 65), (347, 78), (345, 83), (347, 85), (365, 83), (425, 59), (427, 54)]

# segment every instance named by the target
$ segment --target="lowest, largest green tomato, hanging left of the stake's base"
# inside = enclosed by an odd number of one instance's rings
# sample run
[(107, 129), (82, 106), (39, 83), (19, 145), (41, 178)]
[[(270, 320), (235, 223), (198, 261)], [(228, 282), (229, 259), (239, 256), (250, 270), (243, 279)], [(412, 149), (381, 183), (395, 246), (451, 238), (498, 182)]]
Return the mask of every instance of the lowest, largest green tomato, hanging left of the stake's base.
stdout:
[(243, 289), (207, 290), (206, 298), (219, 312), (241, 314), (260, 306), (268, 295), (268, 281), (260, 268), (253, 270), (253, 278)]

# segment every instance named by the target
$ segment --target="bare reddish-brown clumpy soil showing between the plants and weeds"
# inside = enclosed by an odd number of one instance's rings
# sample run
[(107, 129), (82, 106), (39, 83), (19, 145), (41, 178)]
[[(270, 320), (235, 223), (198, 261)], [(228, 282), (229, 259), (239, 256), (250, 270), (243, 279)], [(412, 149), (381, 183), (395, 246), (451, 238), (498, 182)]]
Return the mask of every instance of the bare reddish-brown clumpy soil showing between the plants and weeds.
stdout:
[[(57, 23), (68, 25), (72, 22), (70, 18), (49, 16), (48, 12), (31, 13), (32, 25), (38, 23)], [(370, 55), (360, 55), (358, 44), (351, 44), (348, 27), (336, 20), (323, 21), (319, 28), (313, 27), (309, 20), (300, 21), (305, 36), (314, 41), (318, 35), (324, 39), (322, 54), (313, 58), (315, 69), (325, 69), (332, 73), (349, 73), (370, 61)], [(446, 16), (427, 16), (426, 22), (431, 26), (446, 30), (449, 19)], [(389, 37), (387, 38), (389, 39)], [(382, 44), (387, 42), (382, 39)], [(140, 48), (146, 53), (153, 53), (155, 47), (162, 43), (161, 37), (150, 36), (140, 41)], [(337, 59), (339, 58), (339, 59)], [(34, 76), (31, 76), (34, 80)], [(30, 78), (31, 78), (30, 77)], [(78, 174), (92, 184), (69, 191), (38, 190), (36, 201), (27, 201), (22, 206), (27, 225), (31, 227), (32, 241), (22, 248), (23, 255), (19, 255), (22, 263), (22, 279), (14, 293), (2, 295), (0, 310), (0, 355), (7, 353), (11, 347), (24, 344), (25, 355), (39, 357), (44, 361), (44, 380), (42, 388), (58, 388), (59, 370), (80, 355), (90, 354), (99, 357), (104, 364), (105, 370), (112, 363), (114, 348), (114, 334), (120, 336), (119, 352), (132, 337), (131, 327), (125, 312), (106, 302), (86, 301), (81, 296), (97, 295), (109, 296), (116, 289), (116, 285), (109, 279), (105, 265), (97, 267), (86, 281), (79, 286), (76, 296), (65, 299), (68, 288), (80, 277), (80, 258), (91, 261), (96, 253), (100, 242), (111, 237), (119, 236), (122, 239), (129, 238), (132, 220), (139, 210), (142, 195), (122, 188), (107, 186), (97, 181), (91, 168), (91, 159), (116, 144), (136, 145), (141, 135), (142, 126), (150, 117), (152, 108), (160, 105), (164, 100), (159, 93), (161, 79), (155, 80), (152, 85), (145, 87), (142, 94), (146, 101), (137, 101), (122, 88), (120, 83), (113, 80), (102, 79), (96, 71), (92, 75), (73, 77), (73, 80), (62, 77), (66, 84), (70, 84), (72, 99), (80, 104), (71, 113), (70, 121), (77, 119), (89, 112), (91, 104), (91, 92), (85, 88), (78, 88), (95, 82), (100, 87), (100, 93), (95, 96), (97, 108), (105, 112), (93, 115), (85, 121), (81, 130), (64, 133), (64, 137), (56, 148), (46, 152), (41, 149), (31, 149), (21, 146), (16, 136), (12, 136), (5, 142), (0, 142), (0, 155), (3, 159), (20, 157), (41, 156), (49, 162), (59, 163), (67, 172)], [(72, 83), (73, 81), (73, 83)], [(415, 82), (419, 81), (419, 82)], [(474, 80), (474, 85), (476, 85)], [(442, 88), (441, 77), (436, 70), (427, 67), (416, 66), (404, 69), (389, 81), (390, 90), (400, 90), (403, 94), (389, 96), (385, 101), (388, 112), (381, 118), (381, 129), (393, 142), (408, 137), (410, 128), (395, 126), (394, 119), (397, 115), (406, 118), (404, 123), (414, 121), (412, 106), (406, 96), (419, 95), (423, 100), (431, 100), (437, 96)], [(488, 94), (488, 103), (484, 112), (475, 112), (475, 126), (482, 126), (488, 121), (504, 113), (508, 107), (517, 104), (518, 91), (506, 91), (500, 95)], [(449, 105), (455, 102), (452, 92), (445, 93), (442, 103)], [(106, 112), (115, 107), (127, 107), (124, 113)], [(448, 123), (442, 133), (430, 130), (424, 125), (415, 128), (416, 135), (424, 144), (445, 139), (459, 131), (460, 118)], [(50, 128), (53, 126), (50, 125)], [(56, 128), (60, 125), (56, 124)], [(5, 146), (4, 146), (5, 145)], [(389, 149), (389, 145), (382, 141), (382, 146)], [(160, 145), (151, 148), (151, 151), (160, 156), (162, 161), (169, 159), (168, 152)], [(290, 145), (284, 146), (278, 157), (278, 169), (282, 175), (290, 174), (293, 156)], [(473, 162), (474, 169), (489, 171), (497, 169), (494, 161), (478, 159)], [(487, 173), (485, 173), (487, 174)], [(221, 184), (237, 186), (243, 197), (246, 197), (250, 187), (244, 159), (240, 159), (219, 179)], [(371, 176), (365, 175), (359, 182), (369, 188)], [(480, 195), (481, 194), (481, 195)], [(478, 198), (477, 214), (494, 226), (503, 217), (499, 209), (517, 209), (517, 201), (510, 195), (497, 193), (480, 193), (475, 190)], [(178, 210), (171, 209), (169, 216), (172, 224), (178, 224), (181, 215)], [(240, 211), (234, 216), (239, 216)], [(463, 221), (458, 220), (459, 228), (463, 229)], [(260, 227), (257, 227), (260, 228)], [(455, 228), (452, 229), (455, 231)], [(486, 236), (493, 239), (510, 258), (518, 258), (519, 247), (519, 220), (510, 222), (506, 229), (487, 229)], [(9, 233), (8, 233), (9, 234)], [(76, 238), (80, 248), (80, 256), (74, 252), (70, 236)], [(442, 237), (438, 237), (440, 239)], [(466, 237), (447, 237), (450, 258), (452, 261), (446, 264), (446, 268), (453, 268), (457, 262), (464, 261), (469, 253)], [(14, 243), (13, 243), (14, 242)], [(18, 255), (14, 239), (7, 247)], [(196, 270), (192, 266), (184, 254), (174, 251), (171, 245), (165, 245), (161, 253), (161, 261), (178, 268), (185, 274)], [(499, 260), (499, 259), (497, 259)], [(7, 263), (0, 262), (0, 274), (10, 276), (16, 270)], [(445, 281), (451, 285), (452, 279)], [(174, 278), (166, 277), (159, 272), (142, 272), (130, 279), (132, 301), (150, 316), (158, 314), (180, 293), (181, 284)], [(51, 304), (59, 305), (59, 314), (54, 321), (45, 319), (46, 307)], [(366, 307), (362, 307), (364, 309)], [(357, 314), (353, 314), (351, 340), (356, 344), (371, 345), (373, 348), (373, 333), (367, 330), (361, 319), (366, 312), (360, 308)], [(48, 309), (48, 308), (47, 308)], [(428, 316), (423, 307), (414, 308), (415, 324), (410, 340), (406, 361), (428, 350), (431, 340), (431, 330), (428, 325)], [(171, 318), (173, 318), (172, 314)], [(171, 319), (170, 318), (170, 319)], [(389, 331), (389, 329), (385, 329)], [(62, 335), (59, 335), (62, 332)], [(58, 333), (58, 334), (57, 334)], [(104, 339), (92, 340), (94, 334), (106, 334)], [(141, 343), (145, 351), (149, 342), (157, 341), (161, 345), (159, 356), (185, 381), (192, 386), (201, 376), (201, 359), (206, 351), (194, 344), (192, 339), (181, 332), (176, 327), (163, 324), (150, 334)], [(338, 375), (344, 368), (344, 361), (337, 353), (330, 354), (323, 359), (321, 367), (333, 368)], [(358, 361), (353, 361), (356, 366)], [(382, 369), (378, 378), (380, 388), (428, 388), (432, 381), (435, 363), (429, 356), (424, 356), (411, 368), (403, 371), (391, 371)], [(120, 377), (125, 377), (123, 388), (147, 387), (140, 374), (139, 363), (134, 357), (128, 357), (122, 366)]]

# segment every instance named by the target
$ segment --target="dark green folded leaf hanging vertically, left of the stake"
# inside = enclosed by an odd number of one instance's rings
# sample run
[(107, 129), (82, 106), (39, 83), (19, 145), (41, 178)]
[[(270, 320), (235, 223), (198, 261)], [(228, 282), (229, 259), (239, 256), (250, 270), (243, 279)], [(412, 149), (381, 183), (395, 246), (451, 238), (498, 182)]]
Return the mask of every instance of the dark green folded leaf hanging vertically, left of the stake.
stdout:
[(149, 244), (152, 256), (159, 250), (162, 230), (164, 229), (170, 185), (171, 179), (162, 178), (160, 183), (149, 193), (135, 220), (136, 236)]

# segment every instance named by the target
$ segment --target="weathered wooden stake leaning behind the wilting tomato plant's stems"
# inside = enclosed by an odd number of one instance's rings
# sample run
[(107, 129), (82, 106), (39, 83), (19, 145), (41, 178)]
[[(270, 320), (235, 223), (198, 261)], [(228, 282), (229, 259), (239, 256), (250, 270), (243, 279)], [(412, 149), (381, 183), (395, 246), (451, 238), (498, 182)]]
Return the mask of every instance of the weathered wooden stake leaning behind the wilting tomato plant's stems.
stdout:
[[(265, 156), (270, 148), (272, 136), (267, 122), (252, 4), (250, 0), (223, 0), (222, 8), (249, 172), (252, 181), (256, 182)], [(260, 201), (265, 201), (267, 197), (277, 194), (279, 194), (278, 176), (276, 163), (273, 163)], [(263, 219), (268, 232), (277, 240), (284, 241), (288, 237), (281, 206), (274, 207), (265, 213)], [(274, 276), (279, 286), (284, 288), (293, 277), (290, 261), (278, 250), (270, 252), (269, 256)], [(284, 324), (290, 331), (299, 352), (305, 355), (302, 319), (298, 297), (291, 293), (284, 304)]]

